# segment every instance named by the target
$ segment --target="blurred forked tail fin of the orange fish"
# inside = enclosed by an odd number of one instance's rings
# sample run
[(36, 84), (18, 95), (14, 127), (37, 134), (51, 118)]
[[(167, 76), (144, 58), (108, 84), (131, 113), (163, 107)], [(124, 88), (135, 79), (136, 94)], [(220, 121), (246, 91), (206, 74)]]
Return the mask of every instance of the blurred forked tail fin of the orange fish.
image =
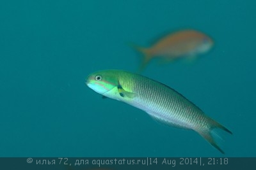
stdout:
[(152, 55), (150, 54), (150, 48), (143, 48), (141, 46), (135, 45), (134, 43), (127, 43), (129, 46), (143, 54), (143, 59), (139, 67), (139, 72), (142, 72), (147, 66), (148, 62), (151, 60)]

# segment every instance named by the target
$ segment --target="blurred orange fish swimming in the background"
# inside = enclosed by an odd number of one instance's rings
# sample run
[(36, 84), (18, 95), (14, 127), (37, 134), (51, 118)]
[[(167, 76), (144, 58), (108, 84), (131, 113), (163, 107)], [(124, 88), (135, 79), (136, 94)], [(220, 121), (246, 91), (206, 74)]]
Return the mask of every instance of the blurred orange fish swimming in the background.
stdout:
[(161, 62), (170, 62), (188, 57), (190, 60), (195, 59), (197, 55), (206, 53), (214, 45), (212, 38), (206, 34), (193, 29), (186, 29), (173, 32), (160, 38), (149, 48), (144, 48), (134, 43), (128, 43), (138, 52), (143, 54), (143, 61), (140, 71), (143, 71), (147, 64), (153, 58), (161, 59)]

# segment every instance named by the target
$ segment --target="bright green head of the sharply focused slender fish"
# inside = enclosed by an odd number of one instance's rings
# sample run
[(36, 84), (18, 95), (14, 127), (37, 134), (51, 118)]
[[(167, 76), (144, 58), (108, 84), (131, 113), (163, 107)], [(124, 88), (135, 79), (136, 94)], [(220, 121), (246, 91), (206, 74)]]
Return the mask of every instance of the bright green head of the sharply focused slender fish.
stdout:
[(95, 92), (104, 95), (118, 87), (118, 78), (112, 71), (97, 71), (88, 75), (86, 85)]

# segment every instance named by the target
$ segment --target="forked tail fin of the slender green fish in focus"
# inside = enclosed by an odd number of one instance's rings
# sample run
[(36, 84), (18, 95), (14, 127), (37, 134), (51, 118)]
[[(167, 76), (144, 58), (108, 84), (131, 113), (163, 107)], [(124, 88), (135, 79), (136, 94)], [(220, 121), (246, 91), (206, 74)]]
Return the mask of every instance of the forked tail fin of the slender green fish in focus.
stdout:
[[(214, 120), (213, 120), (214, 121)], [(215, 128), (219, 128), (222, 129), (223, 131), (226, 131), (230, 134), (232, 134), (231, 131), (229, 131), (226, 127), (224, 127), (223, 125), (219, 124), (218, 122), (213, 122), (212, 126), (208, 129), (205, 129), (204, 131), (198, 131), (198, 133), (205, 138), (212, 146), (214, 146), (214, 148), (216, 148), (217, 150), (219, 150), (221, 153), (225, 154), (225, 152), (223, 150), (221, 150), (220, 146), (218, 146), (218, 144), (216, 143), (216, 141), (214, 140), (213, 136), (212, 136), (212, 130)]]

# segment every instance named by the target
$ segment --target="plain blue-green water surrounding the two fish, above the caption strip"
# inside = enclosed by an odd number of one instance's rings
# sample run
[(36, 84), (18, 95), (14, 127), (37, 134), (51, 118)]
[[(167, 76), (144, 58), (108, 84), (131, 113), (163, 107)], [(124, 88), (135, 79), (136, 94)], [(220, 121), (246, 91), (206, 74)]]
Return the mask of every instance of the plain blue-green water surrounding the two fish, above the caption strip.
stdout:
[(214, 49), (193, 64), (150, 63), (143, 75), (193, 101), (234, 132), (226, 157), (255, 157), (253, 1), (1, 1), (1, 157), (219, 157), (196, 132), (157, 124), (146, 113), (84, 84), (99, 69), (136, 71), (126, 42), (149, 46), (192, 28)]

